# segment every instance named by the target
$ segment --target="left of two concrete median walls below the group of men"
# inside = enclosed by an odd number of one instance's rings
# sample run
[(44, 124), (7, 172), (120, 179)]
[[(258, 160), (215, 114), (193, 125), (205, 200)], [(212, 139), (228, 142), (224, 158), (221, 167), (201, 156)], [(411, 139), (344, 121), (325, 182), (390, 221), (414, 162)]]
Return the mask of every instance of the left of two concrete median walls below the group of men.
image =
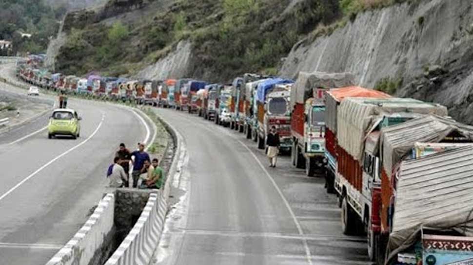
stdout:
[(101, 264), (107, 255), (102, 248), (111, 245), (114, 234), (114, 204), (115, 195), (106, 194), (84, 226), (46, 265)]

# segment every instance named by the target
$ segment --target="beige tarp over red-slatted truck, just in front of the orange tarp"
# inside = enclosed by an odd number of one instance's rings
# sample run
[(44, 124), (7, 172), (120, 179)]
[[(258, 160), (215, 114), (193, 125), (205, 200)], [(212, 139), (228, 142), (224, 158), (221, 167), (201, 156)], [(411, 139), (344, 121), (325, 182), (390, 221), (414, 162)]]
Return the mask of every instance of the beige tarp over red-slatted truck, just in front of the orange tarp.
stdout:
[(340, 147), (361, 162), (365, 134), (385, 116), (447, 116), (447, 108), (415, 99), (347, 98), (337, 110), (337, 140)]

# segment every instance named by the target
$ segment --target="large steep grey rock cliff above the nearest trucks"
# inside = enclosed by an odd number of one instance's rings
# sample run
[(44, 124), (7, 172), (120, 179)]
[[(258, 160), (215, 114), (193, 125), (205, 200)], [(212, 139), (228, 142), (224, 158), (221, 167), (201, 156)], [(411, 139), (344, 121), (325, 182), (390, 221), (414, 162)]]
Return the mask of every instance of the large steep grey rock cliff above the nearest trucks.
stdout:
[(330, 36), (297, 43), (280, 74), (349, 71), (358, 85), (403, 78), (397, 94), (446, 105), (473, 123), (471, 0), (423, 0), (359, 14)]

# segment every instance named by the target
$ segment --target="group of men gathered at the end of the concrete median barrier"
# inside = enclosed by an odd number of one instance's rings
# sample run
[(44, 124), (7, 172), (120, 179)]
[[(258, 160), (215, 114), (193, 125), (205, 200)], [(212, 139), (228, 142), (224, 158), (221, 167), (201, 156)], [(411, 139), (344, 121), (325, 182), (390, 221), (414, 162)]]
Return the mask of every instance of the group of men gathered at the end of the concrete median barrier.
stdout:
[[(159, 167), (159, 160), (151, 161), (148, 153), (144, 151), (144, 144), (138, 143), (138, 150), (130, 152), (124, 143), (120, 143), (115, 154), (114, 163), (109, 167), (107, 177), (110, 179), (110, 187), (130, 187), (139, 189), (160, 189), (164, 185), (165, 176)], [(130, 183), (130, 162), (133, 163)]]

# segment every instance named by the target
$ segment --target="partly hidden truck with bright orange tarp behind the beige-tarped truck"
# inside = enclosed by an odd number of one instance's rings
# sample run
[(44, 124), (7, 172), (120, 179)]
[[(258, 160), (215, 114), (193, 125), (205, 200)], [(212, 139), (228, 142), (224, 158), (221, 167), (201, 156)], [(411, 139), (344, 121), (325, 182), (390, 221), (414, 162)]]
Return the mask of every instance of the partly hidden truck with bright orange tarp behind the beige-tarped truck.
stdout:
[[(336, 111), (340, 103), (345, 98), (376, 98), (386, 99), (391, 98), (390, 95), (369, 88), (362, 87), (346, 87), (346, 88), (334, 88), (326, 92), (324, 103), (324, 121), (325, 121), (325, 188), (328, 193), (335, 193), (334, 181), (337, 168), (337, 149), (338, 143), (336, 141)], [(299, 165), (301, 166), (301, 165)]]

